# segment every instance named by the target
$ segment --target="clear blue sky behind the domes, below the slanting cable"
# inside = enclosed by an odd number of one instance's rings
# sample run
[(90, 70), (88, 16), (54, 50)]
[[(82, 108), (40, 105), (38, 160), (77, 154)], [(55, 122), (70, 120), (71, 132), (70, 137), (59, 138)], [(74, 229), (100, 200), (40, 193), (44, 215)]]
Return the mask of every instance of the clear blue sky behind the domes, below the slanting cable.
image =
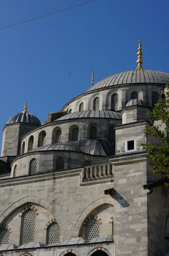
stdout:
[(139, 38), (144, 69), (169, 73), (168, 10), (168, 0), (95, 0), (0, 30), (1, 131), (25, 101), (41, 122), (60, 111), (90, 87), (92, 68), (94, 83), (135, 69)]

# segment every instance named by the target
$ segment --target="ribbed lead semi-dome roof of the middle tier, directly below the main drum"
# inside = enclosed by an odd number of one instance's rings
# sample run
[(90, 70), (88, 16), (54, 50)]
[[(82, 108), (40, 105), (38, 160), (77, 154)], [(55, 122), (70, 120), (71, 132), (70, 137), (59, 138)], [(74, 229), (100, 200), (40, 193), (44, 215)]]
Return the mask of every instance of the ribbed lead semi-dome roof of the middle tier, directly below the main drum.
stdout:
[(56, 121), (67, 120), (67, 119), (75, 119), (75, 118), (111, 118), (111, 119), (121, 119), (121, 114), (118, 112), (110, 111), (110, 110), (87, 110), (87, 111), (79, 111), (67, 114), (65, 116), (61, 116)]

